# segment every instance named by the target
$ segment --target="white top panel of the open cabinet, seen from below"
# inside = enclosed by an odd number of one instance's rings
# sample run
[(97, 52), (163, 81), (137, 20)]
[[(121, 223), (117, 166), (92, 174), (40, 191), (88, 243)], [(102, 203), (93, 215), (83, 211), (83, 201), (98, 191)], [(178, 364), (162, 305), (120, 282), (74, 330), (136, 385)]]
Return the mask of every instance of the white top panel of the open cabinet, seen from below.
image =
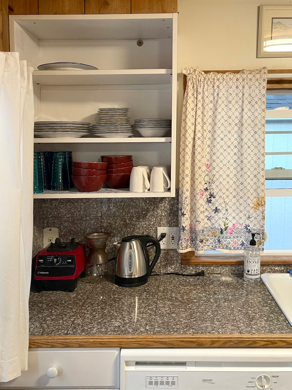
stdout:
[(44, 39), (167, 39), (173, 14), (11, 15), (30, 34)]

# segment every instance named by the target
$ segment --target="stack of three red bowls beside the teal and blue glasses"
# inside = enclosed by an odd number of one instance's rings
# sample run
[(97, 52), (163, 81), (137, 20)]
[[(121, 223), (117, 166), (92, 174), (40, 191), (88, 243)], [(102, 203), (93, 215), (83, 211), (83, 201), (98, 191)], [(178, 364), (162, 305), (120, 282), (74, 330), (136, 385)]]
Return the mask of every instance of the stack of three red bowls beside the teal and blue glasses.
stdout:
[(107, 163), (73, 161), (72, 180), (81, 192), (99, 191), (106, 182)]

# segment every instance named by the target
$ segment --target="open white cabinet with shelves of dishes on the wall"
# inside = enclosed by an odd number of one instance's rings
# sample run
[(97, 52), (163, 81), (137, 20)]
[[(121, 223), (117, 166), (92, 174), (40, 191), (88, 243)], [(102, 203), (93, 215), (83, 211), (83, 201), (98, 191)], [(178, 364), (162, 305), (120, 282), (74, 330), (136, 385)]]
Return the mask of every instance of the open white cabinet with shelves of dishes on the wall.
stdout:
[[(35, 120), (97, 122), (102, 107), (129, 107), (130, 123), (172, 119), (163, 138), (35, 138), (35, 151), (72, 151), (73, 160), (132, 154), (134, 165), (165, 165), (164, 193), (102, 189), (45, 191), (35, 198), (174, 197), (176, 160), (177, 14), (12, 15), (10, 47), (32, 66)], [(137, 46), (142, 39), (143, 45)], [(81, 62), (97, 71), (38, 71), (49, 62)]]

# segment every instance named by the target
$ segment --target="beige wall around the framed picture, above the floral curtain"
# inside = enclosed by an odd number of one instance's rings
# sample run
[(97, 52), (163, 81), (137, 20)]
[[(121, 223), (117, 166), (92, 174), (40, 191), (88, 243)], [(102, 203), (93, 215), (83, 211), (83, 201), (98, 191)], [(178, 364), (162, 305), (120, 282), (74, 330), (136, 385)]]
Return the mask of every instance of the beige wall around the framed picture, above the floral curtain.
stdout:
[[(256, 58), (260, 4), (292, 4), (287, 0), (178, 0), (178, 157), (182, 74), (201, 70), (292, 69), (292, 58)], [(179, 162), (179, 158), (178, 158)], [(178, 186), (177, 167), (177, 186)]]

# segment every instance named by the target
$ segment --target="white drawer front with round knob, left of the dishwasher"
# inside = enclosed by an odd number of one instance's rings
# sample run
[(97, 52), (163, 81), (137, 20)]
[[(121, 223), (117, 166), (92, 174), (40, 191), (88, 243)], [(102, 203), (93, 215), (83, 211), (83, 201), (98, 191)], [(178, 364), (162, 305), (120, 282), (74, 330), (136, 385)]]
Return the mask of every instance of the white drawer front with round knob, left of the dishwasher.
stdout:
[[(47, 369), (58, 374), (49, 378)], [(56, 371), (51, 370), (54, 375)], [(1, 388), (119, 388), (120, 348), (41, 348), (28, 351), (28, 370)]]

